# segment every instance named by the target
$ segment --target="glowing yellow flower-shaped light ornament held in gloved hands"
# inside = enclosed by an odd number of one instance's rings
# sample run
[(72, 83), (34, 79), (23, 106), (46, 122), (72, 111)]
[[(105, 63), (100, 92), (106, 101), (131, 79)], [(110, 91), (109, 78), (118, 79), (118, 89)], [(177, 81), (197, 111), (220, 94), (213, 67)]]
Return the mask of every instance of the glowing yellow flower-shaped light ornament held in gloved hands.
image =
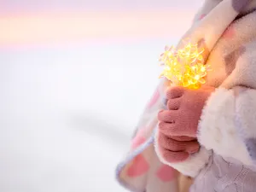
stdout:
[(198, 89), (205, 84), (205, 76), (211, 70), (209, 65), (204, 65), (204, 49), (198, 48), (198, 44), (186, 44), (183, 49), (166, 47), (165, 52), (160, 55), (161, 65), (164, 71), (160, 78), (166, 77), (172, 84)]

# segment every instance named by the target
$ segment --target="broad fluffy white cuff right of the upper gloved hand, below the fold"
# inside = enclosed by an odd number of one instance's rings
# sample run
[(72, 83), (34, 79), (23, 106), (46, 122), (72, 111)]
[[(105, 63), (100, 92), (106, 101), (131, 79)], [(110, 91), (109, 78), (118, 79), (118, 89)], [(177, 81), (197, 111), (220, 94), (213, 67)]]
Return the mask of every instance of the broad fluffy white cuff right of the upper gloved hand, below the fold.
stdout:
[(201, 116), (201, 145), (224, 158), (246, 165), (256, 160), (256, 90), (219, 88), (209, 98)]

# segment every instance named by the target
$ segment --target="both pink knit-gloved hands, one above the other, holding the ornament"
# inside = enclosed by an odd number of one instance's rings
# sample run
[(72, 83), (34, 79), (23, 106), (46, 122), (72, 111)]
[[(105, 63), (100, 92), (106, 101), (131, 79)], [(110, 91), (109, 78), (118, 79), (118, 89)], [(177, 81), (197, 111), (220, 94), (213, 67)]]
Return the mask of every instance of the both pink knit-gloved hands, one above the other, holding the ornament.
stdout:
[(180, 86), (167, 90), (167, 110), (161, 110), (158, 119), (158, 145), (169, 162), (186, 160), (199, 150), (196, 132), (201, 111), (213, 87), (189, 90)]

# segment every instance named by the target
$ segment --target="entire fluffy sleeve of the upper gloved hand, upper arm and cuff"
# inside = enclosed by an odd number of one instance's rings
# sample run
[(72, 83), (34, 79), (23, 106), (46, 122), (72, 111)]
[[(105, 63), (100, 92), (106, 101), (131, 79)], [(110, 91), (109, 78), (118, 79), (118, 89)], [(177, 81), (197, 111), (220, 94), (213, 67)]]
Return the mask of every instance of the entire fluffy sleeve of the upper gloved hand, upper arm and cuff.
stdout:
[(256, 160), (255, 48), (255, 41), (244, 47), (234, 71), (208, 99), (198, 129), (202, 146), (249, 166)]

